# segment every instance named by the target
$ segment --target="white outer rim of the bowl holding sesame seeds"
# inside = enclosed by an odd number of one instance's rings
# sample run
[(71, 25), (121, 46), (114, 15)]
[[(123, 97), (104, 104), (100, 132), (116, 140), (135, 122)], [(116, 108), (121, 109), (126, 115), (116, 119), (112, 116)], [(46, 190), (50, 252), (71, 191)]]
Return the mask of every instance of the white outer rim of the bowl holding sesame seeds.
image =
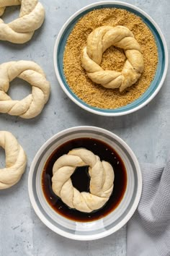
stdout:
[[(61, 76), (60, 76), (60, 73), (58, 71), (58, 65), (57, 65), (57, 61), (56, 61), (59, 42), (61, 40), (61, 37), (62, 37), (64, 31), (66, 30), (66, 27), (69, 25), (69, 23), (74, 18), (76, 18), (79, 14), (81, 14), (81, 12), (84, 12), (88, 9), (91, 9), (92, 7), (97, 7), (97, 6), (102, 5), (102, 4), (104, 4), (104, 5), (106, 5), (106, 4), (115, 4), (115, 5), (120, 5), (120, 6), (122, 5), (122, 7), (129, 7), (131, 9), (135, 10), (135, 11), (138, 11), (140, 14), (143, 14), (143, 16), (145, 16), (153, 24), (153, 26), (156, 28), (156, 30), (158, 32), (158, 35), (160, 36), (161, 41), (162, 41), (163, 46), (164, 46), (165, 66), (164, 66), (164, 72), (162, 74), (162, 77), (161, 77), (161, 80), (158, 84), (158, 87), (156, 88), (156, 90), (154, 90), (154, 92), (143, 103), (140, 103), (138, 106), (135, 106), (134, 108), (131, 108), (131, 109), (128, 109), (128, 110), (125, 110), (125, 111), (120, 111), (120, 112), (106, 112), (106, 111), (104, 111), (103, 108), (102, 108), (102, 111), (95, 110), (95, 108), (91, 108), (91, 106), (85, 106), (83, 103), (81, 103), (76, 98), (74, 98), (73, 95), (71, 95), (71, 93), (68, 92), (65, 85), (63, 84), (63, 81), (61, 80)], [(168, 70), (168, 63), (169, 63), (169, 57), (168, 56), (169, 56), (168, 55), (168, 48), (167, 48), (167, 44), (166, 44), (166, 40), (164, 38), (164, 35), (161, 32), (161, 29), (158, 27), (157, 23), (151, 18), (151, 16), (149, 14), (144, 12), (139, 7), (135, 7), (133, 4), (125, 3), (125, 2), (122, 2), (122, 1), (98, 1), (98, 2), (95, 2), (93, 4), (88, 4), (85, 7), (82, 7), (77, 12), (72, 14), (71, 17), (69, 17), (68, 20), (63, 24), (63, 27), (61, 27), (61, 30), (58, 33), (58, 37), (55, 39), (55, 45), (54, 45), (54, 50), (53, 50), (53, 65), (54, 65), (54, 69), (55, 69), (55, 75), (58, 79), (59, 84), (61, 85), (61, 88), (66, 93), (68, 98), (70, 98), (71, 101), (76, 103), (76, 105), (80, 106), (81, 108), (83, 108), (86, 111), (89, 111), (93, 114), (98, 114), (100, 116), (123, 116), (123, 115), (126, 115), (126, 114), (133, 113), (135, 111), (138, 111), (140, 108), (143, 108), (150, 101), (152, 101), (152, 99), (157, 95), (157, 93), (161, 89), (162, 85), (164, 84), (164, 80), (166, 78), (166, 73), (167, 73), (167, 70)]]

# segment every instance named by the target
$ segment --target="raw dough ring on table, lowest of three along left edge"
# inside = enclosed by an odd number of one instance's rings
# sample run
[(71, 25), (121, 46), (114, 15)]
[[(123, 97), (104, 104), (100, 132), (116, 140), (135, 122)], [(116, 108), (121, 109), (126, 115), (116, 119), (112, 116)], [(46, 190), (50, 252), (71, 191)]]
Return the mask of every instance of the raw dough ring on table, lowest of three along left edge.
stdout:
[(0, 189), (7, 189), (21, 179), (27, 157), (11, 132), (0, 131), (0, 146), (4, 148), (6, 155), (6, 167), (0, 169)]

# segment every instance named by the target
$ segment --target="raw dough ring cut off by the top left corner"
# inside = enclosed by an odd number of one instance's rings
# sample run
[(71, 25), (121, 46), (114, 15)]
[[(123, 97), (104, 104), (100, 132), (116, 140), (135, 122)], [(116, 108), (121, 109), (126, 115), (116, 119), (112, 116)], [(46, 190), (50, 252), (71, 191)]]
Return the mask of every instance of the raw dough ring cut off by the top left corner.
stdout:
[(19, 18), (8, 24), (0, 19), (0, 40), (12, 43), (25, 43), (32, 38), (35, 30), (42, 25), (45, 11), (37, 0), (1, 0), (0, 17), (6, 7), (20, 5)]

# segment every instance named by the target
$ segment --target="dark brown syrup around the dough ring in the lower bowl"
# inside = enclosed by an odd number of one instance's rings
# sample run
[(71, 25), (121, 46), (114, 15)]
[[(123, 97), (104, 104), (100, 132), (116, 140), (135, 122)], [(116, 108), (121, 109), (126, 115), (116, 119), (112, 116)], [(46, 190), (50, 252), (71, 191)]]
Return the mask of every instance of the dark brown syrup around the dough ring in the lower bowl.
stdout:
[[(99, 155), (101, 161), (108, 161), (115, 172), (112, 195), (102, 208), (91, 213), (81, 213), (79, 210), (68, 208), (68, 206), (53, 193), (51, 187), (51, 178), (53, 176), (52, 170), (55, 161), (61, 157), (61, 155), (67, 154), (69, 150), (72, 150), (73, 148), (86, 148), (87, 150), (91, 150), (95, 155)], [(90, 176), (88, 173), (88, 166), (77, 167), (71, 176), (71, 181), (73, 187), (80, 192), (89, 192)], [(126, 186), (127, 173), (120, 156), (105, 142), (90, 137), (69, 140), (68, 142), (63, 143), (63, 145), (58, 147), (50, 155), (42, 171), (42, 191), (45, 195), (45, 199), (53, 210), (72, 221), (96, 221), (99, 220), (99, 218), (107, 216), (120, 204), (122, 197), (125, 194)]]

